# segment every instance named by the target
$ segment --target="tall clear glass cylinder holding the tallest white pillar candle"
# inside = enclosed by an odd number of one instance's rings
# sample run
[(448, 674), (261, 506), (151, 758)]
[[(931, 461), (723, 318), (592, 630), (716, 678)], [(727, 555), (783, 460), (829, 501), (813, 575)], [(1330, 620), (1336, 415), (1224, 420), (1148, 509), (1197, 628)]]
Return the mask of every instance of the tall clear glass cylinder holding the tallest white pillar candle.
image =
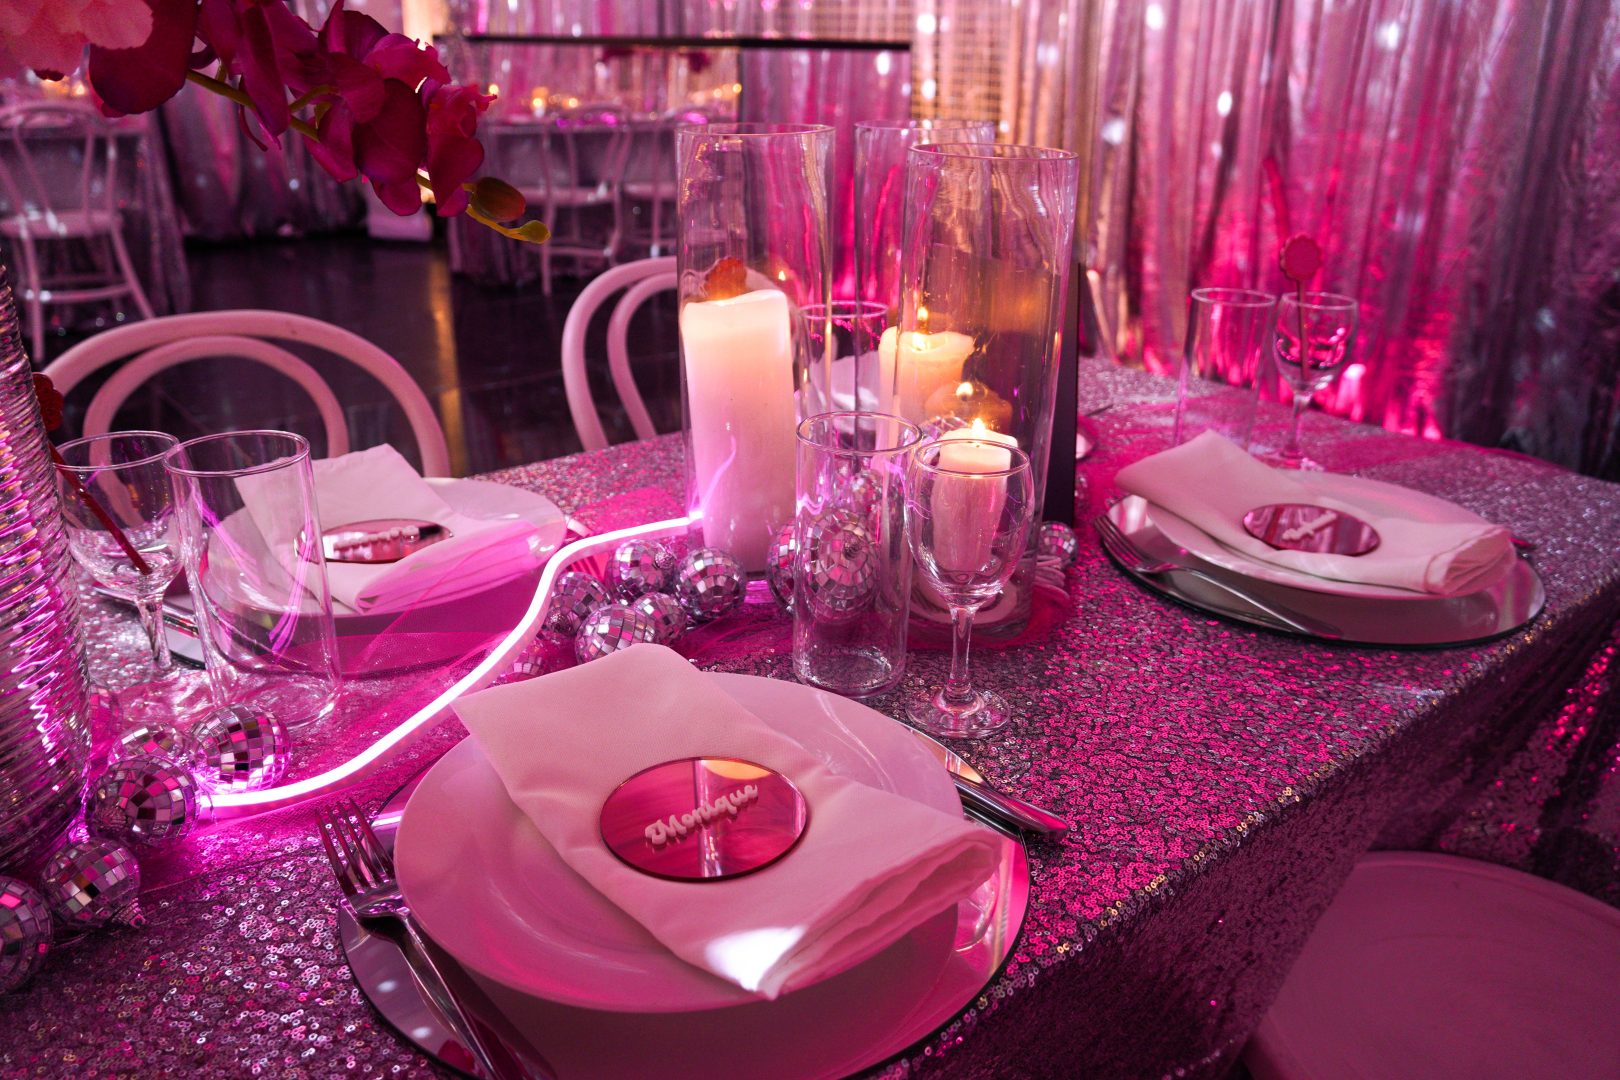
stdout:
[[(831, 144), (825, 125), (676, 133), (687, 508), (697, 539), (750, 573), (765, 570), (771, 538), (794, 518), (807, 308), (826, 303), (831, 277)], [(826, 319), (825, 306), (813, 311)]]

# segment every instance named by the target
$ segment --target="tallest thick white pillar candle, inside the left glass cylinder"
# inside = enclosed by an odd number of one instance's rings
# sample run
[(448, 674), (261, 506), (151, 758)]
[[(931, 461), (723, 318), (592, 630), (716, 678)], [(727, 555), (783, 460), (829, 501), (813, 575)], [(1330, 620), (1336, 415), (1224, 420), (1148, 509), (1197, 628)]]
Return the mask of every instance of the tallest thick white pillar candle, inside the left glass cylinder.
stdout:
[(794, 343), (786, 293), (771, 288), (680, 308), (692, 471), (703, 542), (765, 570), (794, 515)]

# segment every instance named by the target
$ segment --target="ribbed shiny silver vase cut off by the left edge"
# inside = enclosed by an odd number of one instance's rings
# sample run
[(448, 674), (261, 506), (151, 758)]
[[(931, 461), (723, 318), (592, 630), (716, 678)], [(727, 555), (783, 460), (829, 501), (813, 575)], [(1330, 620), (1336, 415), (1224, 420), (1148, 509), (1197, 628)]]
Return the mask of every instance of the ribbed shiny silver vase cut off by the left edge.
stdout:
[(0, 267), (0, 873), (26, 873), (78, 814), (89, 695), (55, 468)]

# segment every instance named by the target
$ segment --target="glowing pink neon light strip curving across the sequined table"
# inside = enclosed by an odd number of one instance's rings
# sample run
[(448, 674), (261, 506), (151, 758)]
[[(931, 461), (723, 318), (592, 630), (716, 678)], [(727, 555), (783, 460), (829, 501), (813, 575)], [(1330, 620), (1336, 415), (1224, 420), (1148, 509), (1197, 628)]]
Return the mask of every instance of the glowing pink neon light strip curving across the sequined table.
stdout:
[(311, 776), (295, 784), (284, 784), (262, 792), (217, 793), (214, 797), (214, 818), (225, 819), (262, 813), (266, 810), (274, 810), (275, 806), (295, 803), (311, 795), (329, 792), (342, 784), (347, 784), (348, 780), (358, 779), (369, 767), (386, 761), (389, 755), (405, 746), (413, 735), (420, 735), (421, 732), (431, 729), (457, 698), (478, 690), (488, 680), (494, 678), (501, 667), (505, 665), (505, 662), (510, 661), (518, 649), (535, 640), (535, 635), (539, 631), (541, 619), (546, 614), (546, 602), (551, 599), (551, 586), (557, 580), (557, 575), (561, 575), (570, 563), (596, 552), (598, 549), (612, 547), (622, 541), (635, 539), (638, 536), (679, 533), (690, 523), (692, 518), (671, 518), (667, 521), (653, 521), (651, 525), (635, 525), (624, 529), (614, 529), (611, 533), (601, 533), (599, 536), (586, 536), (573, 541), (572, 544), (564, 544), (541, 572), (539, 588), (535, 589), (535, 599), (530, 601), (528, 610), (523, 612), (523, 619), (512, 630), (512, 633), (502, 638), (501, 643), (491, 649), (489, 656), (486, 656), (478, 667), (462, 675), (462, 678), (418, 709), (408, 721), (402, 722), (399, 727), (382, 735), (377, 742), (371, 743), (335, 769), (327, 769), (319, 776)]

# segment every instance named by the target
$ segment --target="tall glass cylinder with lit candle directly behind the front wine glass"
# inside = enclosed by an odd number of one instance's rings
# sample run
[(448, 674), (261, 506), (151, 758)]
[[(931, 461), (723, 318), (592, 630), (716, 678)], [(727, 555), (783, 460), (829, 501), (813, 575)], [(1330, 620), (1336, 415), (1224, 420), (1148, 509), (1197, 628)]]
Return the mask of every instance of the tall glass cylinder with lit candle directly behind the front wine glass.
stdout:
[[(1063, 325), (1063, 301), (1079, 160), (1034, 146), (923, 144), (907, 162), (899, 332), (880, 347), (880, 363), (893, 371), (896, 411), (925, 440), (970, 427), (1029, 455), (1030, 549), (974, 623), (980, 636), (1004, 640), (1029, 622), (1058, 361), (1063, 334), (1074, 332)], [(949, 623), (920, 578), (912, 612)]]

